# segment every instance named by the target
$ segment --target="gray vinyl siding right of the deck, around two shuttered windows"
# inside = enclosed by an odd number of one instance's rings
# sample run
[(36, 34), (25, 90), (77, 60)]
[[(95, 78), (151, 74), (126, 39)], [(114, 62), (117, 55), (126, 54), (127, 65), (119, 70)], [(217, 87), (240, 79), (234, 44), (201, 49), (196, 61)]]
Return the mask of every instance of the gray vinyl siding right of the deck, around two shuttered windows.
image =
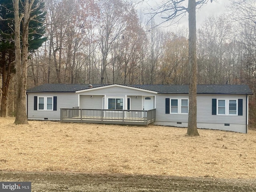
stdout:
[[(156, 121), (188, 122), (188, 114), (165, 114), (166, 98), (188, 98), (184, 95), (159, 94), (156, 96)], [(212, 99), (243, 99), (243, 115), (212, 115)], [(246, 95), (197, 95), (197, 122), (212, 124), (246, 125)]]

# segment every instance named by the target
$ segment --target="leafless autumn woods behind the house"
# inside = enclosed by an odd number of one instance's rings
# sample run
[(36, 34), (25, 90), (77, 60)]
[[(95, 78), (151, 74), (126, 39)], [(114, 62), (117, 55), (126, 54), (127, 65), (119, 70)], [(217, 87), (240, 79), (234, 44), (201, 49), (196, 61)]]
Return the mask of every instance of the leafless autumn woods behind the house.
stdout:
[[(4, 2), (0, 3), (1, 17)], [(198, 84), (248, 84), (255, 93), (253, 3), (255, 0), (232, 0), (228, 10), (236, 14), (210, 15), (197, 27)], [(40, 48), (30, 49), (27, 87), (45, 83), (188, 84), (188, 29), (156, 26), (157, 22), (148, 22), (136, 8), (126, 0), (45, 0), (46, 24), (30, 26), (34, 28), (30, 34), (40, 34), (45, 28), (39, 37), (45, 39)], [(13, 41), (13, 36), (4, 36), (4, 22), (0, 20), (1, 45)], [(12, 30), (8, 32), (12, 34)], [(12, 115), (13, 52), (6, 54), (1, 46), (0, 57), (0, 98), (7, 71), (11, 74), (8, 115)], [(251, 97), (251, 125), (256, 117), (254, 108), (255, 98)]]

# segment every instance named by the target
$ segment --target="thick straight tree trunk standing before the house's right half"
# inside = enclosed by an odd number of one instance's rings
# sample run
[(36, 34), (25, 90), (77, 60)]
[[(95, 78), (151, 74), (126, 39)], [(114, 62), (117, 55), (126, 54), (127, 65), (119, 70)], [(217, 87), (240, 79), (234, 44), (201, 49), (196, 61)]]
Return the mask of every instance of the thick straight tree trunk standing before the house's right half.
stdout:
[(189, 113), (188, 131), (190, 136), (199, 136), (197, 131), (196, 104), (196, 0), (188, 0), (188, 28), (189, 28)]

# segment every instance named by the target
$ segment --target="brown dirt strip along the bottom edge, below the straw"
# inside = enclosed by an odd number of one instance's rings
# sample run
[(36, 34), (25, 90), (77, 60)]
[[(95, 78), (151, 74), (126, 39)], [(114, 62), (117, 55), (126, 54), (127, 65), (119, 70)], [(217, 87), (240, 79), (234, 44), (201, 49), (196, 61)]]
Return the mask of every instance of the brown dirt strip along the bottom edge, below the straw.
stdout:
[(0, 181), (31, 181), (32, 192), (255, 192), (255, 180), (172, 176), (0, 172)]

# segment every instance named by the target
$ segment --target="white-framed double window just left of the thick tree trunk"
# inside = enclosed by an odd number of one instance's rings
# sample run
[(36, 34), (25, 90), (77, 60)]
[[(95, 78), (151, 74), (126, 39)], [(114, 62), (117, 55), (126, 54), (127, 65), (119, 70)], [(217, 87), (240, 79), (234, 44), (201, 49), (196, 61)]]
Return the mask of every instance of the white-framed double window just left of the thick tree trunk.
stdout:
[(188, 99), (171, 99), (170, 113), (188, 114)]

